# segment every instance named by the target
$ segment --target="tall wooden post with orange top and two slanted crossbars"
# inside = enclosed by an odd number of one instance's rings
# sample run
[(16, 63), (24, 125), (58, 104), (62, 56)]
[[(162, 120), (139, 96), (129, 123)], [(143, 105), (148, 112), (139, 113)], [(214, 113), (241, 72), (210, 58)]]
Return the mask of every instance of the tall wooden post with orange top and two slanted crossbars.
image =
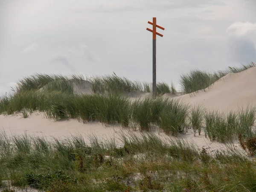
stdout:
[(153, 23), (148, 21), (149, 24), (153, 25), (153, 30), (148, 29), (148, 31), (153, 33), (153, 81), (152, 81), (152, 89), (153, 89), (153, 99), (156, 99), (157, 96), (157, 35), (163, 37), (162, 34), (157, 32), (157, 28), (164, 30), (163, 27), (157, 25), (157, 18), (153, 17)]

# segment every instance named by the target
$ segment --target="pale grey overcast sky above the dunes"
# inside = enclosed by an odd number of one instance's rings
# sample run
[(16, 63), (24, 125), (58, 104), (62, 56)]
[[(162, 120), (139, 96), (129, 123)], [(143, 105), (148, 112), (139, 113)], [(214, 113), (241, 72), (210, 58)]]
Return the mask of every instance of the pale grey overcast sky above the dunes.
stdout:
[(0, 0), (0, 94), (35, 73), (177, 85), (192, 69), (256, 62), (256, 0)]

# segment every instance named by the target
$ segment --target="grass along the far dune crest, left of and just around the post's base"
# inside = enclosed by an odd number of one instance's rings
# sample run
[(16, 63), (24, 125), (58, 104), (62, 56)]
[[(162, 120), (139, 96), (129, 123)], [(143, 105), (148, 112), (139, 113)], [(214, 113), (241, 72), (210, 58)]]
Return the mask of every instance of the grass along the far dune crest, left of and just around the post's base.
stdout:
[[(79, 82), (81, 80), (85, 79), (84, 76), (80, 74), (62, 76), (36, 73), (35, 75), (25, 77), (24, 79), (18, 81), (16, 91), (20, 93), (44, 88), (44, 90), (54, 90), (73, 94), (73, 81)], [(129, 93), (132, 91), (152, 92), (151, 83), (131, 81), (125, 77), (118, 77), (114, 75), (96, 76), (93, 78), (87, 78), (86, 80), (92, 83), (94, 93), (104, 94), (107, 92), (111, 94), (120, 94)], [(172, 92), (174, 91), (175, 89), (173, 86)], [(171, 93), (171, 90), (168, 84), (160, 82), (157, 83), (157, 93)]]

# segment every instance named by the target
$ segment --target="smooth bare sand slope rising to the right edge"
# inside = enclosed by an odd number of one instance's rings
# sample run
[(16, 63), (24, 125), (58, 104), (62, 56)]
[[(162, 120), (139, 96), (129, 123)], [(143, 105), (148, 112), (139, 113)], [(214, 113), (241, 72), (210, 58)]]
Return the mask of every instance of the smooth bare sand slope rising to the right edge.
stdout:
[(230, 73), (205, 91), (177, 98), (191, 105), (202, 104), (205, 108), (224, 112), (256, 105), (256, 67), (240, 73)]

